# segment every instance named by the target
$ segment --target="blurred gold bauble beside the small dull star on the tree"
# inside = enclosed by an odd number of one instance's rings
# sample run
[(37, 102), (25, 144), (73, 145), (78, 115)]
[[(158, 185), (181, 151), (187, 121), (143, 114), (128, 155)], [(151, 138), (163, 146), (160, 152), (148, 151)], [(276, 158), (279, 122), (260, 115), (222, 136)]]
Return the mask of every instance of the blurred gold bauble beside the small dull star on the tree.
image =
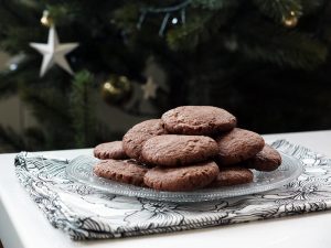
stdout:
[(102, 96), (108, 105), (124, 105), (131, 95), (132, 85), (126, 76), (111, 75), (102, 85)]

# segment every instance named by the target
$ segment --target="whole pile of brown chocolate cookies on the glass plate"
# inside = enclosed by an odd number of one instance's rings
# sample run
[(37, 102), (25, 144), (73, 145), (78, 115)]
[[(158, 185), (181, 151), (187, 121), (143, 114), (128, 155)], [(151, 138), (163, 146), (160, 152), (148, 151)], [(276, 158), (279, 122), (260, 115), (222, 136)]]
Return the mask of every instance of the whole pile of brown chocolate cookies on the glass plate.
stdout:
[(98, 176), (159, 191), (250, 183), (250, 169), (274, 171), (280, 154), (236, 118), (212, 106), (182, 106), (132, 127), (122, 141), (94, 149)]

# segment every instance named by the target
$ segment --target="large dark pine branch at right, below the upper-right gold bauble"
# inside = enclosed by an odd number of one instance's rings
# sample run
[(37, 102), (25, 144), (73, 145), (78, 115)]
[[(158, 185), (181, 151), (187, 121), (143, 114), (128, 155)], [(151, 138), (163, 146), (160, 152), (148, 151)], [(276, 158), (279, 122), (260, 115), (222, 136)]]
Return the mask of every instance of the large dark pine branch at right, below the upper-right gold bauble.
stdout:
[(239, 22), (233, 31), (238, 50), (248, 58), (303, 69), (317, 68), (327, 61), (328, 47), (309, 34), (249, 18), (249, 23)]

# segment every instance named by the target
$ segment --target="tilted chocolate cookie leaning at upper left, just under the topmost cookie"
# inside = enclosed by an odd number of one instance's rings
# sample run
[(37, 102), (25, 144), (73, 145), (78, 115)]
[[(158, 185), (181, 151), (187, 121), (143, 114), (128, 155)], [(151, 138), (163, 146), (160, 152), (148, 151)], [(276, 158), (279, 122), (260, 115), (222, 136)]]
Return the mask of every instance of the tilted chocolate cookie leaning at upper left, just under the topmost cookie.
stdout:
[(160, 119), (146, 120), (134, 126), (122, 138), (122, 149), (128, 157), (141, 161), (143, 143), (154, 137), (166, 134), (167, 131)]

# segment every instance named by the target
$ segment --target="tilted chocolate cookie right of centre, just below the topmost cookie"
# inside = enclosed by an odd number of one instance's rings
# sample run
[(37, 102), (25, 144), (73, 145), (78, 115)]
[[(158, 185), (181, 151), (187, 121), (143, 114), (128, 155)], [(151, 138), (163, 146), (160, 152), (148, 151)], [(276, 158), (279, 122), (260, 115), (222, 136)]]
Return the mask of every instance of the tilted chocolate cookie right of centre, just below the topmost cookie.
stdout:
[(265, 141), (259, 134), (239, 128), (218, 136), (215, 140), (220, 149), (217, 155), (220, 166), (226, 166), (250, 159), (265, 145)]

